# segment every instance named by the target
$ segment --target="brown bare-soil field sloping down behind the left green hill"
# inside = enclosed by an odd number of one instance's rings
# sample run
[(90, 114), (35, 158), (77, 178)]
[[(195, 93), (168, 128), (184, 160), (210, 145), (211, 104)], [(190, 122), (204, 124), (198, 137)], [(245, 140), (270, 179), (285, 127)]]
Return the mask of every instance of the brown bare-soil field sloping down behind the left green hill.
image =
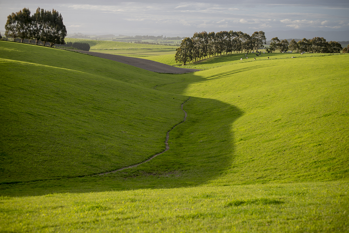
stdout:
[(142, 58), (132, 58), (132, 57), (115, 55), (115, 54), (97, 53), (97, 52), (82, 51), (82, 50), (74, 50), (74, 51), (90, 54), (92, 56), (99, 57), (99, 58), (105, 58), (105, 59), (121, 62), (127, 65), (135, 66), (141, 69), (145, 69), (145, 70), (149, 70), (157, 73), (184, 74), (184, 73), (192, 73), (200, 70), (200, 69), (186, 69), (186, 68), (173, 67), (157, 61), (151, 61), (151, 60), (142, 59)]

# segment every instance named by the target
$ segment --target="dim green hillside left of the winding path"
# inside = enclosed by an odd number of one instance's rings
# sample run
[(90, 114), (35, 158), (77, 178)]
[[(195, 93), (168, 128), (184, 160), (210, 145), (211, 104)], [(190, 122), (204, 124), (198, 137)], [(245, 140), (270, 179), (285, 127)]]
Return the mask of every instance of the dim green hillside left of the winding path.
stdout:
[(183, 119), (178, 108), (187, 97), (133, 84), (144, 70), (116, 70), (116, 62), (69, 51), (0, 46), (2, 183), (139, 163), (161, 152), (166, 132)]

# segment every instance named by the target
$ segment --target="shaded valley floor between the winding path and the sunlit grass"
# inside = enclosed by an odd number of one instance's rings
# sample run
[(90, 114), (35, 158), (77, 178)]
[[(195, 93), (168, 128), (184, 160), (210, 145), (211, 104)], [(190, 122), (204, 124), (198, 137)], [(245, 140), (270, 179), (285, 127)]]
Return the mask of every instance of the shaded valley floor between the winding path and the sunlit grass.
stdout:
[(7, 196), (91, 191), (192, 187), (207, 183), (234, 159), (232, 123), (243, 113), (235, 106), (192, 97), (187, 120), (170, 132), (170, 149), (135, 168), (107, 175), (1, 185)]

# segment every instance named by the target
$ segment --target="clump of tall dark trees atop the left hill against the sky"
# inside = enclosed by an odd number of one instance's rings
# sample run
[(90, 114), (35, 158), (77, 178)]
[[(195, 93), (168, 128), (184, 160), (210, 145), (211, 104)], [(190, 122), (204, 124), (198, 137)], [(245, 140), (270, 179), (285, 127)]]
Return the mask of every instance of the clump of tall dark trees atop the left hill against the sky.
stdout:
[(54, 44), (65, 44), (64, 38), (67, 30), (63, 24), (62, 15), (57, 10), (51, 11), (37, 8), (33, 15), (30, 15), (28, 8), (7, 16), (5, 25), (5, 36), (21, 39), (35, 40), (35, 44), (42, 42), (44, 45), (49, 42)]

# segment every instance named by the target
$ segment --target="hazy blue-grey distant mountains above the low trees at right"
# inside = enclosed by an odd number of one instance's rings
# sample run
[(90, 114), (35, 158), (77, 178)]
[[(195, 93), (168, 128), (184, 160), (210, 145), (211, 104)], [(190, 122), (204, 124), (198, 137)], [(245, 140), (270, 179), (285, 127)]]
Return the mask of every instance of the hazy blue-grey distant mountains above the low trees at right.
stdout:
[(265, 32), (265, 36), (267, 40), (271, 40), (274, 37), (279, 39), (312, 39), (314, 37), (324, 37), (327, 41), (348, 41), (349, 31), (270, 31)]

